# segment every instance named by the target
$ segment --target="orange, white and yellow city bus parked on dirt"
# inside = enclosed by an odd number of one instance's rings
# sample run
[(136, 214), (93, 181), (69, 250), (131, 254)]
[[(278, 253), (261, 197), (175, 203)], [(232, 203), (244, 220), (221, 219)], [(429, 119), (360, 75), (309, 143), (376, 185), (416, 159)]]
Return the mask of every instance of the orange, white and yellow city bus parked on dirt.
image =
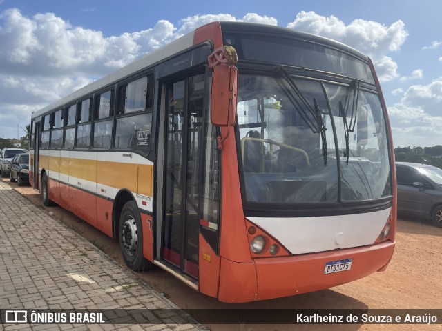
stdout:
[(215, 22), (32, 114), (30, 182), (224, 302), (387, 268), (396, 182), (372, 61), (287, 28)]

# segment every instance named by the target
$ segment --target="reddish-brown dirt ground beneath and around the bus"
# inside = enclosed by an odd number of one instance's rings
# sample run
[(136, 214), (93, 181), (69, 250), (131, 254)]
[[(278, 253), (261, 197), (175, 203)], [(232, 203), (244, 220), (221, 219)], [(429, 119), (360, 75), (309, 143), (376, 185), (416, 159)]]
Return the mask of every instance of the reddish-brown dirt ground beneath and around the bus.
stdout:
[[(8, 179), (2, 179), (9, 182)], [(39, 193), (30, 187), (18, 192), (41, 205)], [(43, 207), (43, 205), (41, 205)], [(59, 207), (46, 208), (56, 219), (65, 223), (93, 242), (106, 254), (124, 265), (117, 241), (107, 237), (88, 223)], [(171, 274), (154, 268), (135, 273), (145, 283), (173, 301), (183, 309), (442, 309), (442, 229), (430, 220), (399, 217), (396, 231), (396, 250), (385, 272), (375, 274), (337, 286), (329, 290), (300, 294), (253, 303), (220, 303), (211, 297), (195, 292)], [(268, 310), (263, 310), (268, 312)], [(439, 321), (440, 323), (440, 321)], [(439, 325), (206, 325), (211, 330), (442, 330)]]

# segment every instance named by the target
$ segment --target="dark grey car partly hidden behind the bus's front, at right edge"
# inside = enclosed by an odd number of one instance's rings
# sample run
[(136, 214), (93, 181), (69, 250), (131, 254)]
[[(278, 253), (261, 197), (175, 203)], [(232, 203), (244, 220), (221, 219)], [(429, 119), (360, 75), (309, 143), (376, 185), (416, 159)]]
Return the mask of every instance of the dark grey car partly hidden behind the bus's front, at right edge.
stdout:
[(431, 218), (442, 228), (442, 170), (421, 163), (396, 162), (398, 212)]

